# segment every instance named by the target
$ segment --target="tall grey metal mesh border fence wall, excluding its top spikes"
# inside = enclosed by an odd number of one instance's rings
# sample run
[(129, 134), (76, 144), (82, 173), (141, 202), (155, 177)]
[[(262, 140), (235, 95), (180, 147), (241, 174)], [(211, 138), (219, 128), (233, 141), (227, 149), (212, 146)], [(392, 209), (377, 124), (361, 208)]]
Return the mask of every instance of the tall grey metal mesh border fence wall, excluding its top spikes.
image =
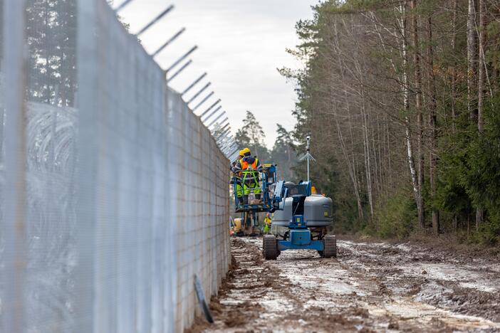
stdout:
[(182, 332), (229, 161), (105, 0), (0, 0), (0, 332)]

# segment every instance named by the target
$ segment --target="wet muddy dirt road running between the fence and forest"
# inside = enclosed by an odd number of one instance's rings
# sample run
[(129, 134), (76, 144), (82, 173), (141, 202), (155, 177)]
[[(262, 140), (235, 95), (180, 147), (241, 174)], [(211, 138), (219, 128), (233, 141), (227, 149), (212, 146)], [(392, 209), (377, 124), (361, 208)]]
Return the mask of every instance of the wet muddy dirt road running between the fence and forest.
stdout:
[(261, 256), (232, 240), (233, 270), (212, 299), (206, 332), (500, 332), (500, 263), (412, 245), (338, 241)]

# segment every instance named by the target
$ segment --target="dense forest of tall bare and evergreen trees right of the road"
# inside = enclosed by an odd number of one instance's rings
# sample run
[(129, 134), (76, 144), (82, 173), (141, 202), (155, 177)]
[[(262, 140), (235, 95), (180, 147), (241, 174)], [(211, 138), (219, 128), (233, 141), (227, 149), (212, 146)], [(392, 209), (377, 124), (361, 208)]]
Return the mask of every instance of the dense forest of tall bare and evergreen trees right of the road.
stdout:
[[(338, 228), (500, 241), (500, 3), (323, 1), (281, 68)], [(303, 150), (300, 145), (296, 152)], [(294, 167), (303, 176), (301, 164)]]

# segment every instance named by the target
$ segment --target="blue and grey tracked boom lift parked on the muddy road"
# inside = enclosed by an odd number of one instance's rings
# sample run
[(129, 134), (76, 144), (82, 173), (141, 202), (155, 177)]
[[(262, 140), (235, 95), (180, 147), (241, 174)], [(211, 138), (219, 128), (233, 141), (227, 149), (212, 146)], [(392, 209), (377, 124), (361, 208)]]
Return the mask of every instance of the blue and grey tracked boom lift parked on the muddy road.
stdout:
[[(256, 222), (259, 212), (274, 213), (273, 226), (286, 230), (282, 234), (264, 236), (263, 253), (266, 260), (276, 260), (284, 250), (317, 250), (323, 258), (337, 255), (336, 237), (329, 235), (327, 229), (333, 223), (333, 201), (312, 194), (311, 181), (301, 181), (299, 184), (277, 181), (276, 165), (265, 164), (264, 169), (259, 171), (261, 201), (252, 200), (256, 189), (249, 189), (249, 200), (243, 203), (236, 196), (236, 178), (234, 175), (231, 181), (234, 184), (235, 211), (244, 216), (253, 216), (249, 223)], [(246, 220), (244, 222), (248, 223)]]

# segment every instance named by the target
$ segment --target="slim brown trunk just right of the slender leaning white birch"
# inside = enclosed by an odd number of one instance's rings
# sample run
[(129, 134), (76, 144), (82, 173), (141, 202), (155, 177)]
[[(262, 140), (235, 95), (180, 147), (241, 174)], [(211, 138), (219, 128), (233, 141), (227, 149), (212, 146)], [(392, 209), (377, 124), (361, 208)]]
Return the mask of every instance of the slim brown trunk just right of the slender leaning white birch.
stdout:
[(418, 175), (418, 224), (420, 228), (425, 227), (424, 196), (422, 196), (424, 186), (424, 152), (423, 152), (423, 115), (422, 115), (422, 72), (420, 68), (420, 41), (418, 36), (418, 20), (415, 13), (417, 0), (411, 2), (413, 21), (413, 62), (415, 65), (415, 110), (417, 111), (417, 175)]

